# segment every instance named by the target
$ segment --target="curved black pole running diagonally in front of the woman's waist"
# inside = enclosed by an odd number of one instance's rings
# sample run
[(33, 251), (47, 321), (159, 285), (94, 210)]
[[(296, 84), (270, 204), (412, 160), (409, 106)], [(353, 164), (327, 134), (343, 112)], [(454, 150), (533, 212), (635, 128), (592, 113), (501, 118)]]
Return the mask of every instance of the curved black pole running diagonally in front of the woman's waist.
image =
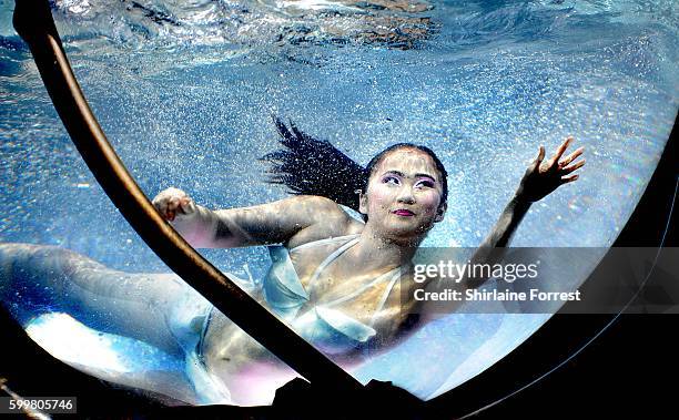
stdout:
[(155, 211), (125, 170), (73, 75), (48, 0), (17, 0), (13, 24), (29, 44), (71, 140), (120, 213), (155, 254), (245, 332), (315, 385), (357, 391), (362, 385), (241, 290), (195, 252)]

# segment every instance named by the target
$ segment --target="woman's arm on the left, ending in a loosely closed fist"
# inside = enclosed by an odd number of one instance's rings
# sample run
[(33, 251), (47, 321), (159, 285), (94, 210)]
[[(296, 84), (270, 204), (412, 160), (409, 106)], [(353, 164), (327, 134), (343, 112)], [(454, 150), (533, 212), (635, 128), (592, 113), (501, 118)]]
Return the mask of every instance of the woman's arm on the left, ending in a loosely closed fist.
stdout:
[[(211, 211), (181, 189), (168, 188), (153, 198), (160, 214), (194, 247), (300, 242), (342, 232), (348, 215), (328, 198), (300, 195), (252, 207)], [(337, 232), (335, 232), (337, 231)]]

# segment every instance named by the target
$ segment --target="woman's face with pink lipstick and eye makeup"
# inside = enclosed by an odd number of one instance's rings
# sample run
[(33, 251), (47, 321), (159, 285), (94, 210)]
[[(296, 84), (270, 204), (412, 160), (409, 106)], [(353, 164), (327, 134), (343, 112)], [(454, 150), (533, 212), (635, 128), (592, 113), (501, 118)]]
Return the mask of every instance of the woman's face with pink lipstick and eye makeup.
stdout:
[(423, 237), (446, 211), (443, 184), (432, 157), (417, 148), (387, 153), (373, 170), (361, 213), (377, 233), (394, 239)]

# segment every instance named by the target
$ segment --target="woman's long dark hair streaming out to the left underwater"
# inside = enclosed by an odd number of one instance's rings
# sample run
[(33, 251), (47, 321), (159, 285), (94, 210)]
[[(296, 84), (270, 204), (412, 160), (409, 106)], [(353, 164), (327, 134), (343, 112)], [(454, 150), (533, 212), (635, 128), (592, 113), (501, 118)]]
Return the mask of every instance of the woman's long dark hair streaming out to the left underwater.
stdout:
[(442, 176), (440, 202), (445, 203), (448, 198), (448, 173), (429, 147), (412, 143), (394, 144), (363, 167), (328, 141), (303, 133), (292, 122), (290, 129), (277, 117), (274, 117), (274, 123), (284, 148), (268, 153), (261, 160), (272, 165), (268, 182), (287, 186), (291, 194), (318, 195), (358, 211), (357, 192), (367, 189), (369, 176), (382, 158), (398, 148), (416, 148), (432, 157)]

